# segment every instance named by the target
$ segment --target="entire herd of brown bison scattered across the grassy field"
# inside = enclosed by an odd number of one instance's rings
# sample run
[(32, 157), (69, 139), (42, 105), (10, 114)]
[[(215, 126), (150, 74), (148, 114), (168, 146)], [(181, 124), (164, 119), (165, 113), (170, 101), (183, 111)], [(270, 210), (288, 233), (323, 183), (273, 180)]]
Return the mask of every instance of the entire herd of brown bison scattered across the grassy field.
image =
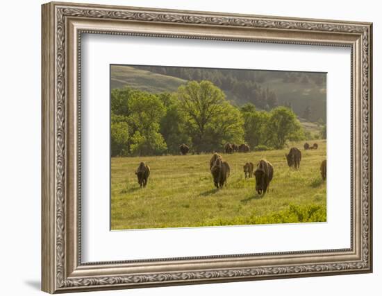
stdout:
[[(309, 146), (308, 143), (304, 144), (305, 150), (317, 148), (317, 143), (314, 143), (313, 146)], [(190, 148), (183, 143), (179, 146), (179, 150), (181, 150), (182, 155), (186, 155), (190, 151)], [(226, 154), (231, 154), (233, 152), (247, 153), (249, 152), (249, 146), (247, 144), (237, 146), (234, 143), (226, 143), (224, 146), (224, 152)], [(301, 151), (299, 148), (290, 148), (289, 153), (285, 154), (285, 158), (290, 168), (299, 169), (301, 162)], [(231, 168), (229, 167), (228, 162), (224, 161), (222, 155), (213, 153), (213, 156), (210, 159), (210, 172), (213, 176), (213, 183), (217, 189), (221, 189), (224, 185), (226, 186), (230, 171)], [(252, 162), (247, 162), (243, 166), (243, 171), (245, 179), (255, 175), (256, 191), (258, 194), (265, 194), (269, 191), (269, 184), (272, 181), (274, 174), (274, 168), (270, 162), (267, 162), (265, 159), (260, 159), (260, 162), (256, 165), (255, 171), (254, 164)], [(326, 180), (326, 159), (322, 161), (319, 171), (321, 173), (322, 180)], [(145, 187), (149, 179), (150, 167), (147, 164), (144, 164), (144, 162), (141, 162), (135, 171), (135, 175), (138, 177), (138, 184), (140, 184), (140, 188)]]

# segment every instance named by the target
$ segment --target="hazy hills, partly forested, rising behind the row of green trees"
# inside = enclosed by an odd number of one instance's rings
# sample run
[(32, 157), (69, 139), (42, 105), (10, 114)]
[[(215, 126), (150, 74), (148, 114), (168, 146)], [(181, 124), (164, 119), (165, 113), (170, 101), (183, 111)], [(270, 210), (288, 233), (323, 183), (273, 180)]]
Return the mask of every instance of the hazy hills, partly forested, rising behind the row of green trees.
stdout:
[(233, 105), (253, 103), (263, 110), (287, 105), (300, 118), (326, 122), (325, 73), (112, 66), (110, 83), (112, 89), (129, 85), (148, 92), (174, 92), (188, 80), (212, 81)]

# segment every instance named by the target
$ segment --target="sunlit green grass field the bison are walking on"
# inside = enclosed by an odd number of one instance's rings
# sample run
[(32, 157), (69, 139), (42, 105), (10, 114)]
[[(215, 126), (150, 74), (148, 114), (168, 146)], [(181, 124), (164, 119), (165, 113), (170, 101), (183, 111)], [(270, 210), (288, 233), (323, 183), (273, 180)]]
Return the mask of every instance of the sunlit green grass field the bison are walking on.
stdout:
[[(197, 227), (326, 221), (326, 182), (319, 166), (326, 158), (326, 141), (317, 150), (301, 150), (301, 167), (289, 168), (284, 150), (222, 154), (231, 166), (227, 186), (217, 190), (210, 174), (211, 155), (113, 157), (111, 160), (111, 228)], [(310, 142), (309, 142), (310, 143)], [(311, 141), (310, 145), (313, 144)], [(255, 178), (244, 180), (242, 166), (265, 158), (274, 166), (269, 193), (255, 192)], [(151, 168), (140, 189), (135, 169)]]

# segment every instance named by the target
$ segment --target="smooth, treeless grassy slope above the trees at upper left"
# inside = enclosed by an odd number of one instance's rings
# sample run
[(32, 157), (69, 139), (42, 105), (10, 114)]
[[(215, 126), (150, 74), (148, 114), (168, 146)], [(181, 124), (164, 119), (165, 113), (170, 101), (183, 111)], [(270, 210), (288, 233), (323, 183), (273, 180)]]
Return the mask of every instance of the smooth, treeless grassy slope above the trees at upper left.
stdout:
[(111, 66), (111, 89), (126, 85), (147, 92), (174, 92), (186, 80), (128, 66)]

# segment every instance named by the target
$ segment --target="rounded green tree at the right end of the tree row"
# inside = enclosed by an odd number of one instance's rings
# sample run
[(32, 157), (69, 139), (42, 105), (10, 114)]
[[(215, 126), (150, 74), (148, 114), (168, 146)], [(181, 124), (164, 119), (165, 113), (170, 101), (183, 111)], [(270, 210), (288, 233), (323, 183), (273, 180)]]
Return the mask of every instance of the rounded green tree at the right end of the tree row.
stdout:
[(287, 107), (276, 107), (270, 112), (267, 142), (274, 148), (282, 149), (286, 141), (304, 139), (304, 130), (296, 114)]

